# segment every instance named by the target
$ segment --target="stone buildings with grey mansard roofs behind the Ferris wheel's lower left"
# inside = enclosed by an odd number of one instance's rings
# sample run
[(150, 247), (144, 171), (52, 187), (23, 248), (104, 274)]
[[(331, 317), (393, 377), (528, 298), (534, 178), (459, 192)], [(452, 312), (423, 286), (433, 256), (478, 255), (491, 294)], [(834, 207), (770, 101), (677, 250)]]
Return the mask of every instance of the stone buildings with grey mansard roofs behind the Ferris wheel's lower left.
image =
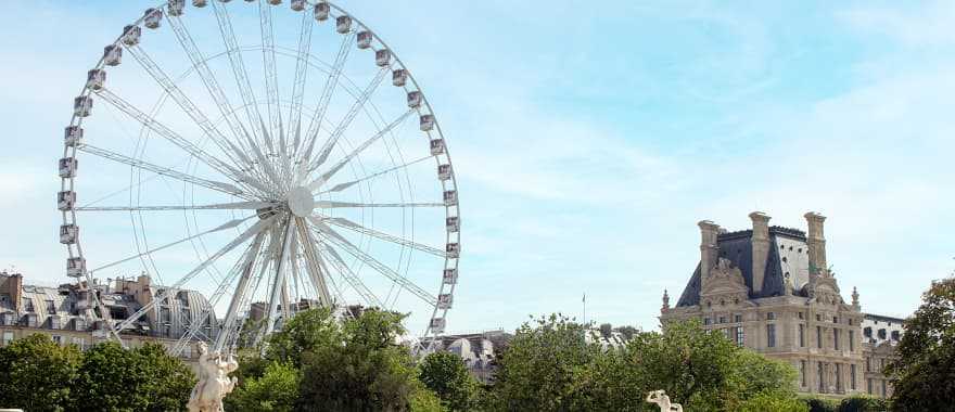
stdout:
[[(112, 283), (112, 284), (111, 284)], [(40, 333), (61, 345), (74, 344), (80, 349), (107, 339), (102, 321), (90, 318), (92, 308), (89, 293), (96, 293), (111, 319), (128, 319), (167, 288), (152, 284), (150, 276), (117, 279), (107, 284), (77, 287), (27, 285), (20, 273), (0, 272), (0, 345)], [(155, 306), (145, 318), (123, 332), (130, 346), (156, 342), (171, 348), (187, 332), (190, 324), (199, 327), (195, 336), (209, 339), (218, 333), (215, 312), (206, 298), (195, 291), (177, 289), (166, 301)], [(199, 357), (198, 342), (187, 345), (181, 353), (186, 360)]]

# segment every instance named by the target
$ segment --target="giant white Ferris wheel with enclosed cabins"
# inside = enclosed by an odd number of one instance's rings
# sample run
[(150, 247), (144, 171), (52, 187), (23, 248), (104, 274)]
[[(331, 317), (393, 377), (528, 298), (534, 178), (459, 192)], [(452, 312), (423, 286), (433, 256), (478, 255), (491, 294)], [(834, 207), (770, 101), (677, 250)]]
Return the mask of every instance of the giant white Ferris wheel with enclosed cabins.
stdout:
[(264, 337), (315, 306), (444, 333), (460, 256), (446, 140), (409, 68), (331, 2), (145, 10), (88, 72), (59, 169), (67, 275), (153, 279), (131, 313), (88, 294), (120, 342), (186, 289), (207, 304), (175, 351), (231, 350), (252, 312)]

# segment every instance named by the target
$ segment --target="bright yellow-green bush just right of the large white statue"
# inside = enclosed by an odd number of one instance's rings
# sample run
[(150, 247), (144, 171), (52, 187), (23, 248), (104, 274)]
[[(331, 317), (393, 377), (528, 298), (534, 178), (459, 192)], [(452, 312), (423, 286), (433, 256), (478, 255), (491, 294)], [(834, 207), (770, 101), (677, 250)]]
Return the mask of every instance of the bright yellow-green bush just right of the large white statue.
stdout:
[(235, 390), (226, 398), (227, 410), (291, 412), (298, 398), (302, 374), (286, 363), (271, 362), (265, 366), (260, 377), (246, 377)]

